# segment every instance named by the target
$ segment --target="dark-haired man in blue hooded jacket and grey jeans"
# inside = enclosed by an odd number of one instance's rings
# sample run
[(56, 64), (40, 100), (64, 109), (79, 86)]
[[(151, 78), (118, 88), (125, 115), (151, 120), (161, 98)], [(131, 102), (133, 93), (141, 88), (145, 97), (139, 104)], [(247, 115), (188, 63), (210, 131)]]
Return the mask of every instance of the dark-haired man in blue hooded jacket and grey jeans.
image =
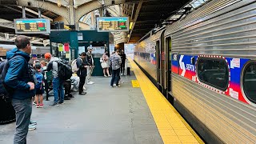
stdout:
[(15, 45), (17, 48), (6, 54), (10, 61), (5, 83), (12, 89), (10, 96), (16, 113), (14, 144), (26, 144), (32, 113), (31, 98), (35, 95), (33, 72), (28, 65), (31, 53), (30, 38), (18, 36)]

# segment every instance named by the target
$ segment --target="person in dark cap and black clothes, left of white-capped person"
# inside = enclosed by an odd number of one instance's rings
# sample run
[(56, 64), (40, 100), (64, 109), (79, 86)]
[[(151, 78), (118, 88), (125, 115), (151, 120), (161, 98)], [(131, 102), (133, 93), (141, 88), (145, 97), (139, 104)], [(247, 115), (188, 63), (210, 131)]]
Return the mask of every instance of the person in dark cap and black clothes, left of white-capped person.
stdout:
[(79, 94), (86, 94), (83, 91), (83, 86), (86, 82), (86, 75), (87, 75), (87, 66), (88, 63), (86, 62), (86, 52), (82, 52), (80, 57), (77, 59), (77, 66), (78, 66), (78, 77), (79, 77)]

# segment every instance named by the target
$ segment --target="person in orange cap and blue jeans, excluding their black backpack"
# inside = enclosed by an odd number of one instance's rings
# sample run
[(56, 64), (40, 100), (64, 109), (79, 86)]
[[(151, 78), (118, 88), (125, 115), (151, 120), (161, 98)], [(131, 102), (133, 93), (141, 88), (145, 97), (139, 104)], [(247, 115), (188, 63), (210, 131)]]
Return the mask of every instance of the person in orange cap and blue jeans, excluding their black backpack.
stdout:
[[(50, 53), (45, 54), (46, 60), (50, 61), (47, 65), (47, 71), (52, 70), (53, 74), (53, 88), (54, 88), (54, 103), (50, 106), (58, 106), (64, 103), (64, 87), (63, 82), (58, 78), (58, 62), (59, 58), (52, 57)], [(60, 92), (60, 99), (58, 98), (58, 91)]]

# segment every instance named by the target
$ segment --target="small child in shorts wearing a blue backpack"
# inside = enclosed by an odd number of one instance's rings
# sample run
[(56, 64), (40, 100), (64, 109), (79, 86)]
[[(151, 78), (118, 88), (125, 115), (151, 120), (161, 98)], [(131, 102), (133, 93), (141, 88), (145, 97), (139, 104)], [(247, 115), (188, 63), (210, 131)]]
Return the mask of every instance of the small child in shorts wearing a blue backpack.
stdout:
[[(42, 72), (41, 72), (41, 64), (39, 62), (35, 63), (35, 69), (36, 69), (36, 73), (35, 73), (35, 76), (37, 78), (37, 81), (38, 83), (34, 86), (35, 90), (36, 90), (36, 95), (35, 95), (35, 102), (37, 104), (37, 108), (39, 107), (43, 107), (43, 103), (42, 103), (42, 94), (44, 94), (44, 89), (43, 89), (43, 86), (42, 86), (42, 83), (43, 83), (43, 75), (42, 75)], [(38, 102), (38, 98), (40, 100), (40, 103)]]

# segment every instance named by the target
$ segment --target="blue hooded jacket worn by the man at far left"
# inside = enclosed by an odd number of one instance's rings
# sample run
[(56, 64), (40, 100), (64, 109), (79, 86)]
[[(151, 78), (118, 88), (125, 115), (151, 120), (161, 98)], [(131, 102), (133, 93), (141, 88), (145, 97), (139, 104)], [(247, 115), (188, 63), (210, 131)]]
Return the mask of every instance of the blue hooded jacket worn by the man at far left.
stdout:
[[(21, 55), (23, 58), (17, 57), (10, 60), (15, 55)], [(27, 84), (27, 82), (34, 82), (33, 75), (30, 74), (30, 67), (28, 66), (30, 55), (14, 48), (6, 53), (6, 58), (10, 61), (5, 83), (14, 89), (11, 93), (12, 98), (20, 100), (32, 98), (35, 95), (35, 90), (30, 90), (30, 85)]]

